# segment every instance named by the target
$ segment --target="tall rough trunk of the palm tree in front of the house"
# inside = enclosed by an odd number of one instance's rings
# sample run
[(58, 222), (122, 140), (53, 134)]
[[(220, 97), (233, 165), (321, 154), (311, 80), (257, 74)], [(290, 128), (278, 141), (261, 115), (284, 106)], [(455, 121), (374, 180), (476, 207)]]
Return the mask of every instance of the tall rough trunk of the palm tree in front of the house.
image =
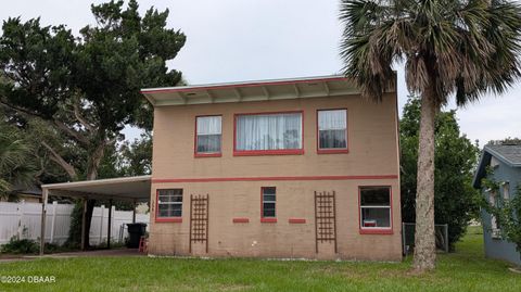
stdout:
[(434, 236), (434, 127), (439, 110), (435, 91), (431, 88), (421, 98), (421, 119), (418, 148), (416, 193), (415, 270), (422, 272), (435, 267)]

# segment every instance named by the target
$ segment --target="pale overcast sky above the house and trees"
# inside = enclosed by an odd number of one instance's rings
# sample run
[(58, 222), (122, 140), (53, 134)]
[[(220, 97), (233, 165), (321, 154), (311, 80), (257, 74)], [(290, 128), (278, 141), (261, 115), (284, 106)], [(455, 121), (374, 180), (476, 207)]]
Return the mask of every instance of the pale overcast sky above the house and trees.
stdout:
[[(66, 24), (74, 33), (93, 23), (90, 3), (102, 1), (17, 0), (2, 4), (0, 18), (41, 16), (43, 24)], [(339, 0), (163, 0), (139, 1), (142, 10), (168, 8), (168, 25), (187, 43), (168, 65), (192, 84), (338, 74), (342, 71)], [(398, 99), (407, 98), (398, 71)], [(452, 103), (448, 109), (455, 109)], [(458, 109), (461, 131), (484, 142), (521, 137), (521, 82), (501, 97)], [(139, 131), (126, 129), (127, 138)]]

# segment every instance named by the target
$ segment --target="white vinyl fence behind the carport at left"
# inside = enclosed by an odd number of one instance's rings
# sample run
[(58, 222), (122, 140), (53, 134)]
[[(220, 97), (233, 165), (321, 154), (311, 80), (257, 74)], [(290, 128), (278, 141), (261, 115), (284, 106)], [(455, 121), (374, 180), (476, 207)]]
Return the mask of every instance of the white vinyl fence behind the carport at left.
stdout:
[[(47, 205), (46, 242), (64, 243), (68, 238), (71, 213), (74, 205)], [(150, 215), (136, 214), (136, 223), (149, 224)], [(123, 242), (127, 232), (127, 223), (132, 221), (131, 211), (115, 211), (112, 208), (111, 242)], [(41, 204), (0, 202), (0, 244), (7, 243), (12, 237), (37, 240), (40, 237)], [(90, 244), (106, 242), (109, 228), (109, 208), (94, 207), (90, 226)], [(148, 226), (147, 226), (148, 229)]]

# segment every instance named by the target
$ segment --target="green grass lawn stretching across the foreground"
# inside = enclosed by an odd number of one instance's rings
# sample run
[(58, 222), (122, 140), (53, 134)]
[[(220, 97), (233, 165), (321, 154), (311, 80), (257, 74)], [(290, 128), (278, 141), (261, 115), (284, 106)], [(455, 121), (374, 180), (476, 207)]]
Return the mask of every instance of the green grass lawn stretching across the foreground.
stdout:
[(3, 291), (521, 291), (521, 275), (483, 257), (479, 229), (436, 271), (403, 263), (284, 262), (148, 257), (43, 258), (0, 264), (0, 276), (55, 276), (55, 283), (5, 284)]

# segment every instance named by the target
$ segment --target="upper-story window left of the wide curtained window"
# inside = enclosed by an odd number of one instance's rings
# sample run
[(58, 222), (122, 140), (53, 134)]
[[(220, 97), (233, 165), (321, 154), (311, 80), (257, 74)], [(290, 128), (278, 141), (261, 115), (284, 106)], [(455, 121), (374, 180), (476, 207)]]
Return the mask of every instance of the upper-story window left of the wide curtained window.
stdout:
[(221, 116), (198, 116), (195, 155), (220, 156)]

